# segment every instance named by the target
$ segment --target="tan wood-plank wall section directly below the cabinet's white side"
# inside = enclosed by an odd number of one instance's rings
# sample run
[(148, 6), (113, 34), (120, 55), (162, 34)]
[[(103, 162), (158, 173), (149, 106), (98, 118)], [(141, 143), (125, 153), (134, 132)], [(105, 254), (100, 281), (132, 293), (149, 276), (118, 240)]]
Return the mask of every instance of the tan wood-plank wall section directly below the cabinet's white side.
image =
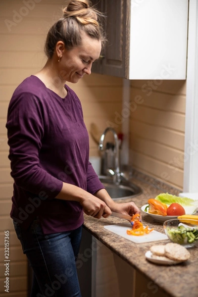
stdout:
[(181, 191), (185, 105), (185, 81), (131, 83), (130, 163)]

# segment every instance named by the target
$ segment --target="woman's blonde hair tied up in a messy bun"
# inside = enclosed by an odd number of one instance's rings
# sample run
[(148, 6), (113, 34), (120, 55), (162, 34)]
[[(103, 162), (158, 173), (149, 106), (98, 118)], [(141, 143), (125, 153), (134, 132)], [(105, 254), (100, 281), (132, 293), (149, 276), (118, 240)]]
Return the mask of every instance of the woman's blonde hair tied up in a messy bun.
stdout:
[(53, 24), (47, 35), (45, 53), (48, 58), (52, 57), (58, 41), (64, 42), (66, 49), (80, 46), (82, 31), (104, 46), (106, 39), (100, 24), (103, 14), (91, 6), (89, 0), (70, 0), (62, 11), (63, 18)]

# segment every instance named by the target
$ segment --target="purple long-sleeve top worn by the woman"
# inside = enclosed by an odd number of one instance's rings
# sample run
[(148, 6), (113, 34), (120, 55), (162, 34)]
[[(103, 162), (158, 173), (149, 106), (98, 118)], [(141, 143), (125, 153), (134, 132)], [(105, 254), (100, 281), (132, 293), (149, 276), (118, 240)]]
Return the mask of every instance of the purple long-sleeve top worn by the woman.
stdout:
[(89, 162), (89, 138), (77, 95), (66, 86), (62, 99), (32, 75), (9, 104), (8, 131), (11, 217), (28, 228), (39, 217), (45, 234), (73, 230), (83, 223), (79, 202), (55, 199), (62, 182), (91, 194), (103, 189)]

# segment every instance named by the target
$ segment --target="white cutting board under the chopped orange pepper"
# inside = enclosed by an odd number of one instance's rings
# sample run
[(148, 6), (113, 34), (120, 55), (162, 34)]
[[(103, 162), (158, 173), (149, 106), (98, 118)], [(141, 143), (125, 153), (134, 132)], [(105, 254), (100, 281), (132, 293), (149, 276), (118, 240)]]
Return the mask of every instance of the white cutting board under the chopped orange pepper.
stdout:
[(168, 237), (165, 234), (155, 230), (142, 236), (128, 235), (127, 229), (132, 228), (132, 226), (130, 226), (129, 224), (107, 225), (107, 226), (104, 226), (104, 228), (136, 244), (143, 244), (143, 243), (149, 243), (149, 242), (168, 239)]

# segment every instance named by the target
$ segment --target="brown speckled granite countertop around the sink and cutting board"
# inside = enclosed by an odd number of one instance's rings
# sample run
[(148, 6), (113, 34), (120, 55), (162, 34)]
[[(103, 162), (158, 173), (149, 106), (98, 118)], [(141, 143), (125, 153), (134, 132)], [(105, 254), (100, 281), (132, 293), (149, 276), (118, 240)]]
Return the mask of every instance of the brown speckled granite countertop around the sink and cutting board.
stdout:
[[(147, 203), (148, 198), (154, 198), (160, 193), (168, 192), (178, 195), (180, 192), (138, 173), (133, 176), (131, 181), (142, 188), (142, 194), (133, 199), (117, 200), (117, 202), (134, 201), (141, 208), (142, 205)], [(144, 225), (154, 227), (154, 230), (164, 233), (163, 223), (154, 221), (145, 213), (142, 213), (142, 221)], [(198, 297), (198, 247), (189, 248), (190, 259), (177, 265), (165, 266), (148, 262), (145, 257), (146, 251), (153, 244), (166, 244), (169, 240), (135, 244), (103, 228), (105, 225), (124, 222), (126, 221), (111, 216), (107, 219), (101, 218), (98, 220), (85, 215), (84, 228), (111, 251), (159, 286), (167, 296)]]

